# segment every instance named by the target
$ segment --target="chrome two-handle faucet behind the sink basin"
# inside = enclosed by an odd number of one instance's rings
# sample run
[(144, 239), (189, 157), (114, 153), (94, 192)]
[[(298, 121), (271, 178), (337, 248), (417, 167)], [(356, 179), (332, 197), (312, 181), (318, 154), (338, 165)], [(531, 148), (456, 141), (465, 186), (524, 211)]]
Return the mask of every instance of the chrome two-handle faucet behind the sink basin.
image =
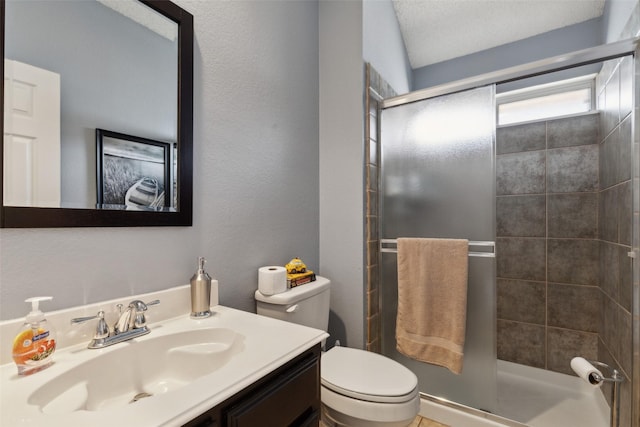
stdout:
[(95, 316), (77, 317), (71, 319), (71, 323), (84, 323), (88, 320), (98, 319), (98, 326), (88, 348), (104, 348), (123, 341), (128, 341), (142, 335), (146, 335), (151, 330), (146, 325), (147, 319), (144, 314), (150, 305), (160, 304), (160, 300), (144, 303), (134, 300), (129, 303), (125, 311), (122, 311), (122, 304), (118, 304), (119, 317), (113, 325), (113, 330), (109, 328), (104, 320), (104, 311), (99, 311)]

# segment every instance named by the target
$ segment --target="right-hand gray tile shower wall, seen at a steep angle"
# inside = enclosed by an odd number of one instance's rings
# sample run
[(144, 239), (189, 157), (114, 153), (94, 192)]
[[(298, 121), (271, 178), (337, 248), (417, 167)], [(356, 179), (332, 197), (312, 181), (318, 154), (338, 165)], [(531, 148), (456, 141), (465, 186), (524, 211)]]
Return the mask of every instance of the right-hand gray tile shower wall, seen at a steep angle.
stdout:
[[(628, 426), (632, 378), (632, 105), (633, 59), (608, 61), (596, 80), (600, 128), (600, 245), (598, 360), (615, 367), (626, 381), (620, 392), (620, 425)], [(611, 398), (611, 387), (603, 387)]]

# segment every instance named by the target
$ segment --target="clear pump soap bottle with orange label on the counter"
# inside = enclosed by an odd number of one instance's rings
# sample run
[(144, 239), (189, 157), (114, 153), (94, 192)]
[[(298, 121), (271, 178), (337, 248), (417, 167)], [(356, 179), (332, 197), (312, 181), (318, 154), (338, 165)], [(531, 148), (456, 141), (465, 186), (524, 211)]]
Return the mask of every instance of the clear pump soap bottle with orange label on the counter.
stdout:
[(13, 340), (13, 360), (19, 375), (29, 375), (41, 371), (53, 362), (56, 350), (55, 331), (44, 313), (40, 311), (40, 301), (49, 301), (53, 297), (34, 297), (25, 300), (31, 303), (31, 312)]

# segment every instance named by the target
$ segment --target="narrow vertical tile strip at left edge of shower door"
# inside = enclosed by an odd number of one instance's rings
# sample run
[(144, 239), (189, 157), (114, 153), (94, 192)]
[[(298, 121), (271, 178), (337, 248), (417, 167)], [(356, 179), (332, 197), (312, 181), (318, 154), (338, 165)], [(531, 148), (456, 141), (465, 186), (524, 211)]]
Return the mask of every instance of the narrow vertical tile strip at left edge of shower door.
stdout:
[(367, 350), (380, 352), (380, 237), (378, 233), (378, 198), (380, 146), (378, 144), (379, 102), (395, 96), (395, 91), (378, 72), (365, 64), (365, 262), (367, 286)]

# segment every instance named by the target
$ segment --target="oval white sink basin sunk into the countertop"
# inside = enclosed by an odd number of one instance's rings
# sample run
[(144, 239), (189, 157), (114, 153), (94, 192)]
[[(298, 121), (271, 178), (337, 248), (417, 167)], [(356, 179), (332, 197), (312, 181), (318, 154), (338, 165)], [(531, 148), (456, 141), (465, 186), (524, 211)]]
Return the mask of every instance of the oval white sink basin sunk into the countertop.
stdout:
[(227, 328), (152, 334), (91, 350), (104, 354), (51, 378), (28, 403), (45, 414), (135, 405), (222, 368), (244, 349), (244, 336)]

